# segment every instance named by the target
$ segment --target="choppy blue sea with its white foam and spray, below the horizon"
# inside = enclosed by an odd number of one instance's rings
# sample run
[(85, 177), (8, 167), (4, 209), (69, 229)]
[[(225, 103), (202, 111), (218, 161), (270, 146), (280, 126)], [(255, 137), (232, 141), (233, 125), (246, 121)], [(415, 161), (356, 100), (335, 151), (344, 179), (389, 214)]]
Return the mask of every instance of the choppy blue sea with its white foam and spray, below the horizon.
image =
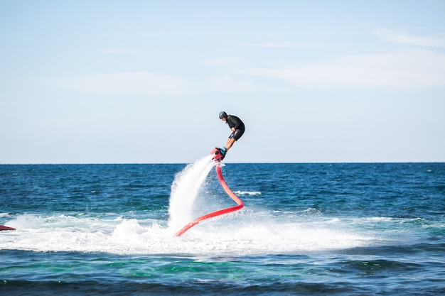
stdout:
[(0, 165), (0, 295), (445, 295), (445, 163)]

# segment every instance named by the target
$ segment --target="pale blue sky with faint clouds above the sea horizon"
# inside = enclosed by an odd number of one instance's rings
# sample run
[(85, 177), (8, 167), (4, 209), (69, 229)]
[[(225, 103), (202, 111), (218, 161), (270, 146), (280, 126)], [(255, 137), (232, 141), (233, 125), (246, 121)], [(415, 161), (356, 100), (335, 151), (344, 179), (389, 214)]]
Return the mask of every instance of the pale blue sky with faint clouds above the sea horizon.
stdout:
[(0, 1), (0, 163), (445, 161), (445, 1)]

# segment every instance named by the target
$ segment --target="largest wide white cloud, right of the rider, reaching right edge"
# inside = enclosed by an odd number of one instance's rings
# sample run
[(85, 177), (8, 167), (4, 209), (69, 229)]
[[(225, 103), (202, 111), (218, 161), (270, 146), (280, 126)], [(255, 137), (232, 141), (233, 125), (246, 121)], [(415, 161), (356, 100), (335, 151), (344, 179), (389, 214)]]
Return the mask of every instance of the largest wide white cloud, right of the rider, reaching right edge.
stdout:
[(246, 68), (239, 75), (274, 77), (296, 87), (419, 89), (445, 87), (445, 56), (428, 50), (348, 55), (315, 65)]

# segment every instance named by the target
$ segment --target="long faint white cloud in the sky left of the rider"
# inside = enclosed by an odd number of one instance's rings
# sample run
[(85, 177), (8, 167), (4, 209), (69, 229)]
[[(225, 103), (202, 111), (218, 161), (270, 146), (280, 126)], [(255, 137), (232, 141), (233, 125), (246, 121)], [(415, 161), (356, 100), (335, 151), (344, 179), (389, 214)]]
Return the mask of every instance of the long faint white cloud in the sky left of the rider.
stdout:
[(175, 96), (193, 91), (191, 83), (181, 77), (143, 71), (58, 77), (45, 84), (94, 94)]

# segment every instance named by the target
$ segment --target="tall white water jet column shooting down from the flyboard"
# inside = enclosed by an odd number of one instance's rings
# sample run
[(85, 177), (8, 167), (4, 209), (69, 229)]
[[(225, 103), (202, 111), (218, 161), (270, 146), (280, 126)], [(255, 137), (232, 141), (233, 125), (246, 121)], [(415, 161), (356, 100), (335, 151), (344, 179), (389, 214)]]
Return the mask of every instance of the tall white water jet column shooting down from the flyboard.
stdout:
[(168, 226), (181, 228), (193, 220), (192, 210), (210, 170), (215, 166), (213, 155), (196, 160), (176, 174), (171, 185)]

